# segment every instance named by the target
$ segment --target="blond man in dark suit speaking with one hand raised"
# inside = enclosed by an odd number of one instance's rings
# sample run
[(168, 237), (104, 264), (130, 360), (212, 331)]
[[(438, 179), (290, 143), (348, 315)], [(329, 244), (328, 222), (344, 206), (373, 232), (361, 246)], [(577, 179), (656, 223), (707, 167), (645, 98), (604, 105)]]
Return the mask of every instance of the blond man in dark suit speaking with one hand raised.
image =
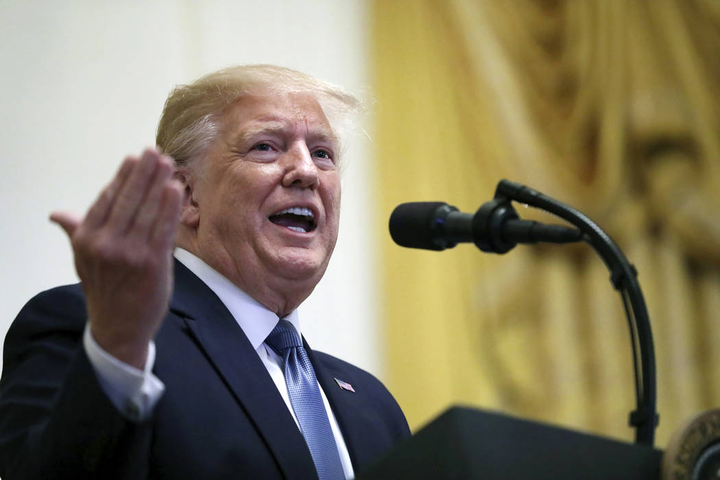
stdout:
[(8, 332), (4, 479), (351, 478), (410, 434), (377, 379), (297, 346), (356, 107), (284, 68), (211, 73), (168, 97), (164, 153), (126, 158), (84, 218), (51, 216), (81, 284)]

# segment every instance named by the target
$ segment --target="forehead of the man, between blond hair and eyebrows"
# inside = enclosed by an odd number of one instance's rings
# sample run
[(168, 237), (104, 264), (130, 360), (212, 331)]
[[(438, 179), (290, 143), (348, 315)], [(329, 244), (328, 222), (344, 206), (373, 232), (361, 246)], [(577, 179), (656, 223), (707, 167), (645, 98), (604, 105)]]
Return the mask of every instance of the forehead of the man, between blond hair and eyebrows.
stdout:
[(246, 94), (222, 115), (222, 130), (233, 137), (272, 131), (338, 142), (323, 108), (308, 93)]

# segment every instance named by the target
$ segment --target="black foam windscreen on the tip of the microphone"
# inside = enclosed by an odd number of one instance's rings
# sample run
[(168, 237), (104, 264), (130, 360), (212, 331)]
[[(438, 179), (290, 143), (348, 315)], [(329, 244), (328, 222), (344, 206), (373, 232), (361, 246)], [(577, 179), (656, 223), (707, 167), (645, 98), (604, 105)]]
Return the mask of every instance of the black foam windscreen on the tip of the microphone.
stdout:
[(390, 215), (390, 236), (397, 245), (426, 250), (444, 250), (433, 230), (436, 212), (442, 201), (413, 201), (395, 207)]

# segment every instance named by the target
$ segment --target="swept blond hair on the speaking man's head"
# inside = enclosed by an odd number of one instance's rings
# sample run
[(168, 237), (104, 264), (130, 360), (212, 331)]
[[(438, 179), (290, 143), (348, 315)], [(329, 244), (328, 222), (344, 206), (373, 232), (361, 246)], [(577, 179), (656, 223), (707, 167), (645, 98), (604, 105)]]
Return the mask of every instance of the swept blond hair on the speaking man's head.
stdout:
[(237, 65), (176, 86), (168, 95), (158, 122), (156, 143), (176, 166), (194, 168), (220, 131), (220, 117), (251, 89), (271, 94), (315, 96), (338, 139), (361, 112), (361, 101), (345, 89), (275, 65)]

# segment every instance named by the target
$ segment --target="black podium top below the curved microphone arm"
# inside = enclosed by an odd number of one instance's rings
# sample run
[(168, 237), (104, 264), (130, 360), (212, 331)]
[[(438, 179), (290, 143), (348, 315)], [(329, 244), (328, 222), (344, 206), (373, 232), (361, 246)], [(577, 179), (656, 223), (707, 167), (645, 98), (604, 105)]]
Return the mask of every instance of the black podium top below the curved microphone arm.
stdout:
[(452, 407), (359, 472), (363, 479), (659, 479), (662, 451)]

